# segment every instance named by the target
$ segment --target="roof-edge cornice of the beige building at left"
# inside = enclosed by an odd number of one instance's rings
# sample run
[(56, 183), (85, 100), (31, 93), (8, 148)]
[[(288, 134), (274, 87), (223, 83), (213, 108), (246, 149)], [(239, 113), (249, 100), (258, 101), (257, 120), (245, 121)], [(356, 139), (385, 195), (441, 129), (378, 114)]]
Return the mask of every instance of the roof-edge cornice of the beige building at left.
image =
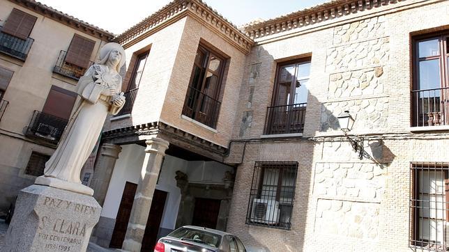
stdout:
[(50, 19), (55, 20), (61, 24), (66, 26), (70, 26), (73, 29), (78, 31), (82, 31), (83, 33), (89, 34), (90, 36), (99, 38), (100, 40), (111, 41), (114, 38), (114, 34), (109, 31), (105, 31), (103, 29), (98, 28), (92, 24), (86, 23), (82, 20), (79, 20), (75, 17), (67, 15), (66, 13), (62, 13), (59, 10), (55, 10), (49, 6), (46, 6), (43, 3), (39, 3), (33, 0), (9, 0), (17, 5), (20, 5), (29, 10), (33, 10), (34, 12), (43, 15), (45, 17), (49, 17)]

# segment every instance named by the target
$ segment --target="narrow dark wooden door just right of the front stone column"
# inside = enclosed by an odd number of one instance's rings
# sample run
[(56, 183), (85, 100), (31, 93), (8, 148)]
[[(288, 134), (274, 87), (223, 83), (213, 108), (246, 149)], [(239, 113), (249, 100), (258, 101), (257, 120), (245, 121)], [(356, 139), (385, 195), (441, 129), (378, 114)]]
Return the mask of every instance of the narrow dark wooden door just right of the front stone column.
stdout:
[(144, 239), (142, 240), (142, 249), (140, 251), (153, 251), (158, 239), (158, 232), (162, 214), (164, 213), (167, 191), (155, 190), (153, 201), (151, 202), (150, 214), (146, 221)]

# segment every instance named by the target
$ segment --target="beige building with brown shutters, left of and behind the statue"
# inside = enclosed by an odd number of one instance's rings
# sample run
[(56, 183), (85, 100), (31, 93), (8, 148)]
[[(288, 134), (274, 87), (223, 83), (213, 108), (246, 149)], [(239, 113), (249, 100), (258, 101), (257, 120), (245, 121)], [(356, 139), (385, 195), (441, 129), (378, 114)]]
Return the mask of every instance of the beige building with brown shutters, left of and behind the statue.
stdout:
[[(2, 216), (18, 191), (43, 174), (76, 104), (77, 79), (112, 38), (36, 1), (0, 1)], [(87, 47), (74, 58), (84, 48), (77, 42)]]

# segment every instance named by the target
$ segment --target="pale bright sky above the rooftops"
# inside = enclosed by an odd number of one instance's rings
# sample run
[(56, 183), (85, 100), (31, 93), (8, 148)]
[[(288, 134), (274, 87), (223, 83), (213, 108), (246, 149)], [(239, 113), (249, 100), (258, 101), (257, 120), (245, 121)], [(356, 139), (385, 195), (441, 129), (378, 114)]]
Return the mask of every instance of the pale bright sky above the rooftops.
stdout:
[[(170, 2), (169, 0), (38, 1), (115, 34), (122, 33)], [(204, 1), (236, 26), (246, 24), (257, 18), (271, 19), (325, 2), (325, 0)]]

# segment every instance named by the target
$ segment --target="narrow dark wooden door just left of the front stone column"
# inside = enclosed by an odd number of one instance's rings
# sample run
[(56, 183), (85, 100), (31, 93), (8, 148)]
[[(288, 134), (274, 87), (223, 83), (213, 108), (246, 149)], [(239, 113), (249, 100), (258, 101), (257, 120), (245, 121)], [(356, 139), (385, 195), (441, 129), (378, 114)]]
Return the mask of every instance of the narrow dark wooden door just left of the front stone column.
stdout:
[(123, 195), (121, 196), (119, 212), (117, 212), (116, 216), (114, 233), (112, 233), (111, 243), (109, 244), (111, 248), (121, 249), (121, 245), (125, 239), (126, 228), (128, 228), (128, 221), (130, 221), (136, 189), (137, 184), (126, 182)]

